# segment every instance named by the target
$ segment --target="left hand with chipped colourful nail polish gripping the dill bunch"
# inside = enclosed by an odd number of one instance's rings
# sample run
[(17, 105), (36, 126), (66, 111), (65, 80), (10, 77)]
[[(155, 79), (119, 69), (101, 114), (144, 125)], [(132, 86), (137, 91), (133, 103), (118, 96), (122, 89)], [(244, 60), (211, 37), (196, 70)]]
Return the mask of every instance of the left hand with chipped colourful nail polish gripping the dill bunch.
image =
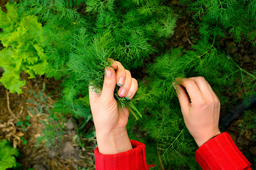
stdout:
[(113, 61), (111, 67), (105, 69), (104, 84), (100, 95), (89, 87), (91, 111), (101, 154), (116, 154), (132, 149), (126, 130), (129, 110), (124, 108), (120, 111), (114, 98), (114, 90), (118, 85), (119, 96), (126, 97), (128, 100), (136, 93), (138, 83), (120, 62)]

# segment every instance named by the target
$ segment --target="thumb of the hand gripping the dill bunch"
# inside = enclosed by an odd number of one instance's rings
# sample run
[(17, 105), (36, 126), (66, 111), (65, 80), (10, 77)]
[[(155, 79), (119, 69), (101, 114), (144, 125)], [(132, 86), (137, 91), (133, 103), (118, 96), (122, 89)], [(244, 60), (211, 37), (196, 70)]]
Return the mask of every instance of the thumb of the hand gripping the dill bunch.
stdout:
[(116, 74), (115, 70), (110, 67), (105, 68), (104, 83), (101, 91), (101, 97), (112, 98), (116, 87)]

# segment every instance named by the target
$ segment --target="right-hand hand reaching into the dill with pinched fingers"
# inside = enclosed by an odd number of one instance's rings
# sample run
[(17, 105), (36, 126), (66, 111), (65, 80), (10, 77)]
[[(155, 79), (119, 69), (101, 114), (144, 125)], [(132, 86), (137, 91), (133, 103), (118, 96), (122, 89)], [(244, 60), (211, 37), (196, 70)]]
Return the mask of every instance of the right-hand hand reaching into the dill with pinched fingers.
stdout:
[[(174, 84), (188, 131), (200, 147), (220, 134), (220, 101), (204, 77), (183, 78)], [(188, 95), (186, 94), (186, 91)]]

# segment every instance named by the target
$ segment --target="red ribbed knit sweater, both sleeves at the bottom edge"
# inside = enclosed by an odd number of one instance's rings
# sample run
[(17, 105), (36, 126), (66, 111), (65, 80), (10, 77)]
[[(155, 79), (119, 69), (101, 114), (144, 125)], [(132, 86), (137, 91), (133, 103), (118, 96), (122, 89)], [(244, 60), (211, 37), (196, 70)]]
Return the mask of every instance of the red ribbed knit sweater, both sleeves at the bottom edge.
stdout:
[[(133, 149), (114, 155), (94, 150), (96, 170), (149, 170), (143, 143), (131, 140)], [(195, 155), (203, 170), (251, 170), (250, 162), (243, 156), (227, 132), (221, 133), (200, 146)]]

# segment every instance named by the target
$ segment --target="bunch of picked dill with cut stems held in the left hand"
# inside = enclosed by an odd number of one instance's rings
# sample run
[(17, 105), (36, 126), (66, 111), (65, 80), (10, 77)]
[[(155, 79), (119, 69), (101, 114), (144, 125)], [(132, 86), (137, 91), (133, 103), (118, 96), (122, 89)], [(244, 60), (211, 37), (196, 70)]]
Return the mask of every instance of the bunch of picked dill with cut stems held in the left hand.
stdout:
[[(76, 51), (71, 53), (71, 59), (68, 65), (70, 70), (78, 75), (78, 79), (85, 80), (86, 86), (100, 94), (104, 82), (105, 68), (111, 67), (113, 61), (113, 46), (110, 33), (106, 32), (104, 36), (95, 36), (91, 42), (87, 39), (86, 29), (81, 28), (79, 35), (75, 35), (77, 44), (74, 46)], [(72, 90), (69, 90), (72, 93)], [(77, 91), (76, 91), (77, 92)], [(69, 95), (70, 96), (70, 95)], [(114, 97), (121, 109), (126, 107), (138, 119), (134, 112), (137, 111), (131, 100), (126, 100), (118, 96), (118, 86), (116, 86)], [(141, 115), (140, 115), (141, 116)]]

